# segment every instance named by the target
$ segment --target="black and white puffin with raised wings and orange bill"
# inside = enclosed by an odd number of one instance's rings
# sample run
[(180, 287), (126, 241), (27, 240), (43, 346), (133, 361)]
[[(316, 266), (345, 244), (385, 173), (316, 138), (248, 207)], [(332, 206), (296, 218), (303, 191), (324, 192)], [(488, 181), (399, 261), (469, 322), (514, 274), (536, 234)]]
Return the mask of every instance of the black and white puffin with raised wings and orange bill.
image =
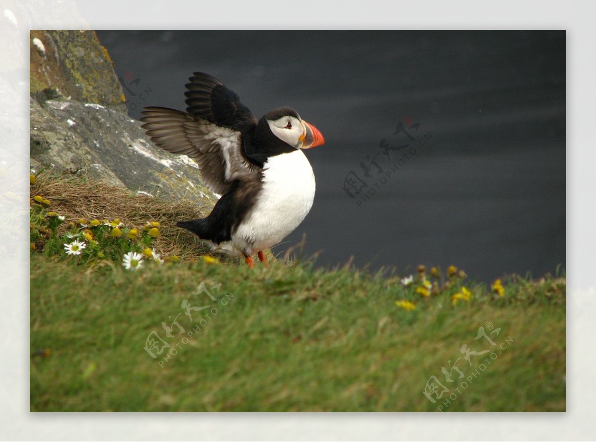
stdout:
[(209, 216), (180, 221), (214, 248), (232, 248), (249, 267), (252, 255), (279, 244), (312, 207), (315, 176), (304, 149), (321, 132), (290, 107), (257, 120), (235, 92), (202, 72), (189, 78), (186, 112), (145, 107), (142, 128), (157, 146), (193, 158), (204, 183), (222, 195)]

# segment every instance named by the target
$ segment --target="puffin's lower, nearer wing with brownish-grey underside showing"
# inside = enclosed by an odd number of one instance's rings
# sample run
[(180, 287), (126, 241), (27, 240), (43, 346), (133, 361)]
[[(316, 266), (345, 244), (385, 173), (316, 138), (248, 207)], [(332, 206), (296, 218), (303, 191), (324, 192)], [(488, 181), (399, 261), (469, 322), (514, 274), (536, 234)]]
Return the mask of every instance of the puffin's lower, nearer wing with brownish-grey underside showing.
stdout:
[(244, 153), (242, 133), (166, 107), (145, 107), (141, 127), (157, 146), (197, 161), (207, 187), (226, 194), (235, 180), (259, 172)]

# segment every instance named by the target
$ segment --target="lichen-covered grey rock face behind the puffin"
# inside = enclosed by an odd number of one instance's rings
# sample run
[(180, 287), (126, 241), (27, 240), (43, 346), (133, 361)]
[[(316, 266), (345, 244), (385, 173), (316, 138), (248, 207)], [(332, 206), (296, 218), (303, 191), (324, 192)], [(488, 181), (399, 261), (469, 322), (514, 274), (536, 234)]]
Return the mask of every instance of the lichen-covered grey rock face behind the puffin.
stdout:
[(93, 31), (32, 31), (30, 167), (102, 179), (167, 200), (213, 206), (188, 157), (155, 147), (126, 113), (122, 86)]

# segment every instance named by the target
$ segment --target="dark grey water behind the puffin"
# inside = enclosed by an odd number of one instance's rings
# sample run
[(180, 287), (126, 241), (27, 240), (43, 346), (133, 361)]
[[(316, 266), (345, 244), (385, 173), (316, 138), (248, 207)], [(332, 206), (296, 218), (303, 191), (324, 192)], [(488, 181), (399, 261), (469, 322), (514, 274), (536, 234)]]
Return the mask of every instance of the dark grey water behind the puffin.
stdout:
[[(566, 264), (563, 31), (98, 36), (133, 117), (184, 109), (198, 70), (257, 117), (290, 105), (321, 130), (326, 144), (306, 152), (314, 206), (277, 252), (306, 233), (322, 265), (455, 264), (488, 280)], [(400, 123), (407, 133), (394, 135)]]

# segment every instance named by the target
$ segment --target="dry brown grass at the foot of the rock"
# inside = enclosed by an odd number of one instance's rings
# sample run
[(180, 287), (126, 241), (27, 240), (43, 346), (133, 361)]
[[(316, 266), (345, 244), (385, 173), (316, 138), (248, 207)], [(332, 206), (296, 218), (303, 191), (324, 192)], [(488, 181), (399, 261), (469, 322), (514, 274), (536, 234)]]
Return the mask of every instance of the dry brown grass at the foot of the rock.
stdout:
[(166, 255), (178, 255), (186, 260), (197, 259), (210, 253), (207, 245), (185, 229), (176, 227), (179, 220), (207, 216), (212, 207), (197, 207), (190, 200), (163, 201), (147, 195), (135, 194), (128, 189), (108, 185), (100, 180), (79, 176), (52, 176), (48, 173), (36, 177), (30, 186), (30, 197), (42, 195), (51, 201), (50, 209), (66, 217), (68, 222), (83, 218), (120, 219), (127, 228), (142, 228), (150, 221), (159, 221), (160, 237), (157, 250)]

